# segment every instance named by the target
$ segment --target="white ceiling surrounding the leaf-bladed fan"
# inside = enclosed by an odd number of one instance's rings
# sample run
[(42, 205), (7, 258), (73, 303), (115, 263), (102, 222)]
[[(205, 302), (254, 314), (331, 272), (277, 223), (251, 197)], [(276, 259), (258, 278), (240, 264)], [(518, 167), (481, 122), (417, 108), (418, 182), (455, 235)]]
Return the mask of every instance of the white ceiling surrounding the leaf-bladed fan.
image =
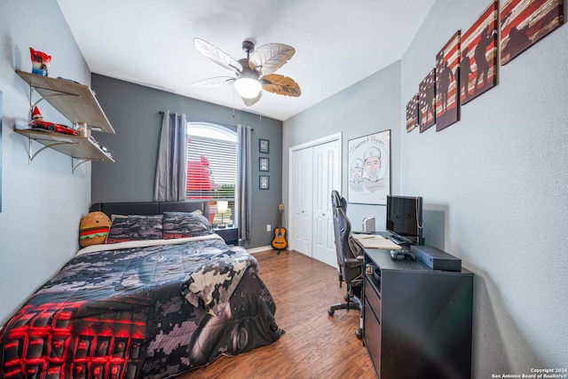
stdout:
[[(92, 73), (285, 121), (400, 59), (435, 0), (57, 0)], [(241, 43), (286, 43), (296, 55), (277, 74), (299, 98), (270, 92), (245, 107), (233, 75), (193, 47), (200, 37), (235, 59)]]

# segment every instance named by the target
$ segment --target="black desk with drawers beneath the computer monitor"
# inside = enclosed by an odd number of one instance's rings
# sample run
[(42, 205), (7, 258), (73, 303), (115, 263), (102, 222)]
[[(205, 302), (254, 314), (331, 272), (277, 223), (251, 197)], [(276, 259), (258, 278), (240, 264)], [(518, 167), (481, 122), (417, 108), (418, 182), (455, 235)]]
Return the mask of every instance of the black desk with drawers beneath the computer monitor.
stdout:
[(473, 273), (392, 260), (384, 249), (364, 253), (363, 341), (376, 375), (470, 378)]

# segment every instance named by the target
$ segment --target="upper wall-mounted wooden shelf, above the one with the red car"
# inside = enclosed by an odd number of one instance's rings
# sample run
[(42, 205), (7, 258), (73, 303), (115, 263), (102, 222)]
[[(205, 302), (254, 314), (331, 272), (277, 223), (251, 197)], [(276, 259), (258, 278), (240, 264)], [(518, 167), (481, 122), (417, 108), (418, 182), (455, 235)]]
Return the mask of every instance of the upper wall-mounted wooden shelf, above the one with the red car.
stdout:
[(16, 73), (70, 122), (85, 122), (92, 130), (114, 133), (89, 86), (23, 71)]

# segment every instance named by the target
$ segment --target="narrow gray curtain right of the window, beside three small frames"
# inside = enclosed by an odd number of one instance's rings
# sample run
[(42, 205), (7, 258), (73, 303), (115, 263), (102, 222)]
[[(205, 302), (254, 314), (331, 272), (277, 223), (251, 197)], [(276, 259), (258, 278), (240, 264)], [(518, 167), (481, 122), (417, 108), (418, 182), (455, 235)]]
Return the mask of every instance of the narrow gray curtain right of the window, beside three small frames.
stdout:
[(252, 213), (252, 130), (248, 126), (237, 128), (237, 188), (236, 213), (239, 240), (250, 242), (250, 215)]

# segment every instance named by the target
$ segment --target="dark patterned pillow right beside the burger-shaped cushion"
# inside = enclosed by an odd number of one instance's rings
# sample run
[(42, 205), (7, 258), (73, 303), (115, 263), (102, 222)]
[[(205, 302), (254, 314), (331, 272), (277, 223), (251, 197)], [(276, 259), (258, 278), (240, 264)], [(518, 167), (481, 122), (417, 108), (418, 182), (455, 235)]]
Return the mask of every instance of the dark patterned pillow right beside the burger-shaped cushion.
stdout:
[(162, 240), (162, 215), (114, 217), (105, 243)]

